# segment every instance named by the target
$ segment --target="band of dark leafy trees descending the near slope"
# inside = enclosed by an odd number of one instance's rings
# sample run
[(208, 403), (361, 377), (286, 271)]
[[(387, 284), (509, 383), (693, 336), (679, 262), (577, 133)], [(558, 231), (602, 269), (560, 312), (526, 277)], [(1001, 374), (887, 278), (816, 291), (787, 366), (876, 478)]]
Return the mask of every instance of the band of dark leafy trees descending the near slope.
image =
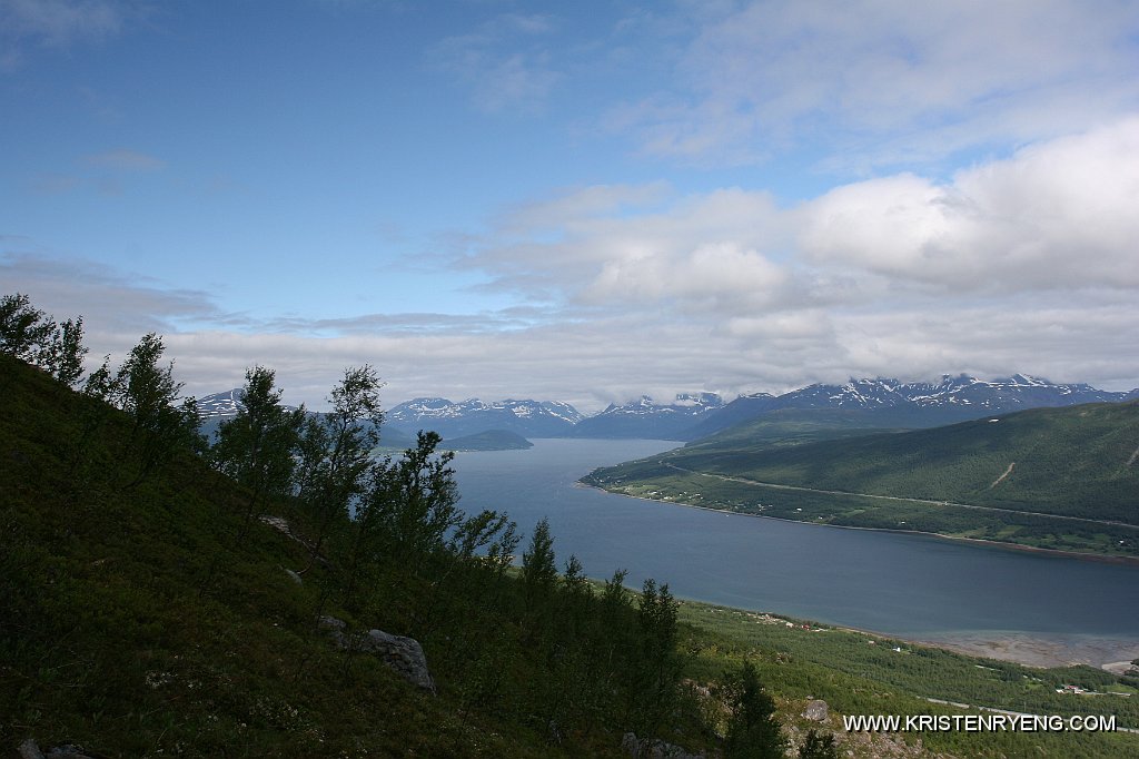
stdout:
[[(649, 579), (632, 593), (624, 571), (598, 583), (574, 555), (559, 566), (546, 520), (516, 561), (517, 524), (503, 512), (459, 507), (453, 454), (440, 451), (434, 432), (420, 432), (400, 456), (378, 457), (383, 383), (371, 366), (345, 369), (325, 413), (284, 406), (274, 372), (253, 366), (237, 414), (206, 440), (195, 400), (181, 398), (173, 362), (163, 360), (161, 336), (145, 335), (117, 368), (106, 357), (85, 379), (82, 337), (81, 318), (57, 323), (26, 295), (0, 299), (0, 352), (99, 401), (89, 405), (74, 442), (76, 498), (98, 488), (106, 497), (130, 493), (192, 452), (240, 489), (235, 541), (269, 512), (287, 516), (303, 537), (305, 561), (295, 573), (319, 590), (314, 630), (335, 611), (350, 628), (417, 638), (464, 708), (492, 704), (551, 743), (598, 729), (685, 731), (719, 742), (728, 756), (782, 756), (787, 738), (751, 664), (716, 686), (726, 717), (710, 717), (686, 683), (690, 632), (667, 585)], [(128, 419), (124, 442), (103, 458), (89, 443), (115, 422), (99, 409)], [(218, 570), (202, 578), (203, 593), (212, 591)], [(344, 678), (354, 664), (346, 652)], [(801, 756), (834, 751), (829, 736), (812, 733)]]

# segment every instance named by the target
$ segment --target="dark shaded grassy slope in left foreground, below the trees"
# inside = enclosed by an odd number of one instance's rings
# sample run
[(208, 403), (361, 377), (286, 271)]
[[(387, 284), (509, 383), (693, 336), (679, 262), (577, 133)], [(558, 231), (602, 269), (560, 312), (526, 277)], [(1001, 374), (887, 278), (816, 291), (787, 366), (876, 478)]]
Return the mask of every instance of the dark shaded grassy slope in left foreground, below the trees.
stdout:
[(366, 656), (345, 677), (313, 630), (319, 570), (297, 586), (303, 548), (260, 524), (238, 545), (241, 495), (191, 455), (132, 492), (80, 489), (85, 399), (0, 356), (0, 756), (26, 737), (107, 757), (550, 756), (462, 711), (452, 683), (426, 696)]

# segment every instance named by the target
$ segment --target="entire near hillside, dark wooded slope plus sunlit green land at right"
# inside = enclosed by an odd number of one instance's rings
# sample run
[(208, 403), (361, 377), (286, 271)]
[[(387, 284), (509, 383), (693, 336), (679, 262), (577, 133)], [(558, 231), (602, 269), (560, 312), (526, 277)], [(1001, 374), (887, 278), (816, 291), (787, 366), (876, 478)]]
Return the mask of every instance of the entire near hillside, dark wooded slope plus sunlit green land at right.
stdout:
[[(14, 344), (0, 351), (5, 752), (28, 738), (99, 757), (1134, 749), (1123, 733), (844, 734), (837, 715), (960, 711), (928, 697), (1132, 727), (1139, 712), (1133, 688), (1088, 668), (981, 669), (681, 602), (653, 580), (630, 590), (620, 570), (589, 580), (544, 522), (524, 537), (503, 512), (465, 513), (437, 435), (377, 458), (370, 367), (345, 372), (326, 414), (284, 409), (272, 370), (252, 367), (211, 446), (158, 336), (81, 390)], [(415, 638), (432, 688), (337, 645), (333, 618), (341, 642)], [(1076, 703), (1063, 683), (1115, 695)], [(831, 715), (802, 717), (817, 700)]]

